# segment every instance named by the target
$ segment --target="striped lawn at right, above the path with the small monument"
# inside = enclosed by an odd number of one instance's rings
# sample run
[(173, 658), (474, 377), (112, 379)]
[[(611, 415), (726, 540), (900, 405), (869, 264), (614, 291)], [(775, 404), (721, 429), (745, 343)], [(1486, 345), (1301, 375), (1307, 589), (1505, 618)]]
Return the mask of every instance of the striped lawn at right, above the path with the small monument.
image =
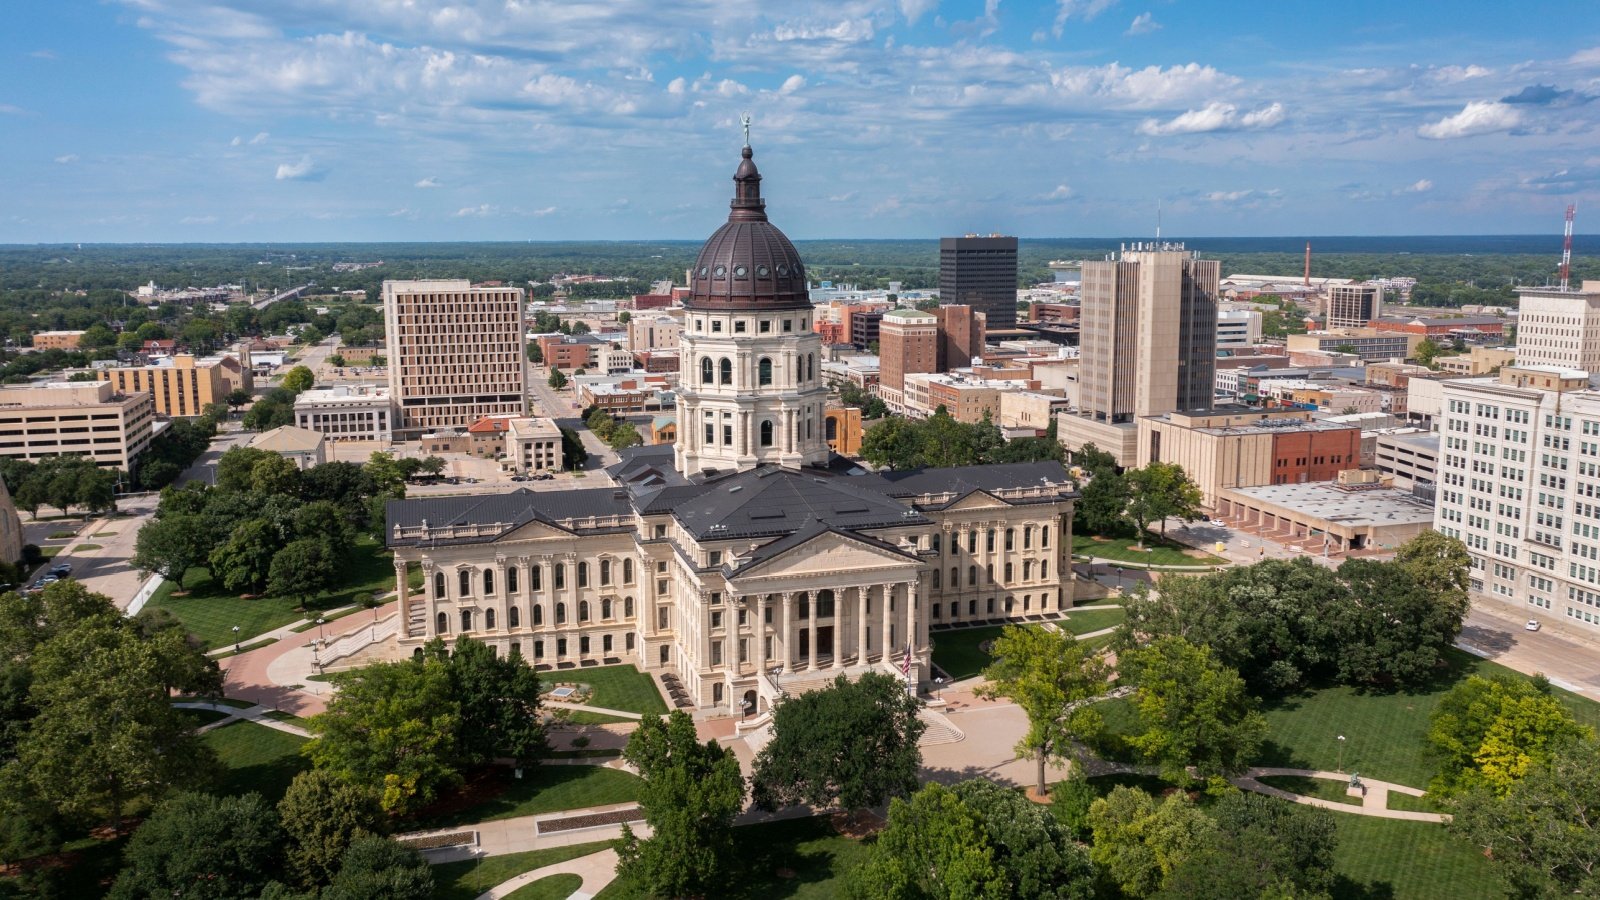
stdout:
[[(1450, 650), (1446, 658), (1448, 669), (1424, 690), (1363, 693), (1328, 687), (1267, 706), (1270, 745), (1258, 764), (1333, 772), (1339, 769), (1338, 735), (1344, 735), (1346, 772), (1427, 788), (1438, 772), (1427, 754), (1429, 717), (1438, 700), (1469, 674), (1526, 677), (1461, 650)], [(1595, 701), (1560, 689), (1552, 689), (1552, 693), (1566, 703), (1578, 721), (1600, 724), (1600, 705)]]

